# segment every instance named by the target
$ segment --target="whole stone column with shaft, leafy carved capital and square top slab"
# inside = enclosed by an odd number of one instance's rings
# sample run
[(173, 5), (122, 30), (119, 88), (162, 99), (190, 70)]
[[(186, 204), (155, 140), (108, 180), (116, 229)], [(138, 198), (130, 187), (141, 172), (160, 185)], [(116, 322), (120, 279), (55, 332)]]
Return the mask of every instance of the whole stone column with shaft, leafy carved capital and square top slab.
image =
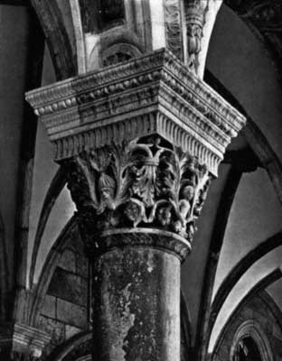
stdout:
[(167, 50), (33, 90), (93, 267), (93, 355), (180, 360), (180, 266), (245, 123)]

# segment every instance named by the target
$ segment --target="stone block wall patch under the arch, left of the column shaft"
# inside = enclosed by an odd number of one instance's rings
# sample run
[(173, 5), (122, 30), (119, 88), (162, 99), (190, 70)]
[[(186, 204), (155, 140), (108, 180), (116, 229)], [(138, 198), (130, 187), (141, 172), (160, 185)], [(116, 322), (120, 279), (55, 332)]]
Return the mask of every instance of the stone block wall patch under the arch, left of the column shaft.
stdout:
[(78, 239), (61, 255), (40, 312), (40, 328), (51, 337), (51, 347), (89, 329), (89, 263)]

